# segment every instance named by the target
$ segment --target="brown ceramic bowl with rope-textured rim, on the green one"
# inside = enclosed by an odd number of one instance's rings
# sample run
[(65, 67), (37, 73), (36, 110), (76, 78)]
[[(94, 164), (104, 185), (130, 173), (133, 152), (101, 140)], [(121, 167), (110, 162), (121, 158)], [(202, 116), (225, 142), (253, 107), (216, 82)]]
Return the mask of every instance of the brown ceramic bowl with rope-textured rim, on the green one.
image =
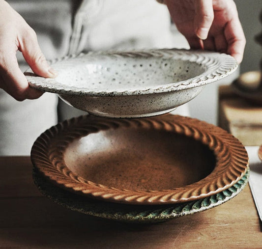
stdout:
[(197, 119), (162, 115), (67, 120), (35, 141), (33, 165), (68, 191), (128, 204), (170, 204), (222, 192), (246, 173), (244, 146)]

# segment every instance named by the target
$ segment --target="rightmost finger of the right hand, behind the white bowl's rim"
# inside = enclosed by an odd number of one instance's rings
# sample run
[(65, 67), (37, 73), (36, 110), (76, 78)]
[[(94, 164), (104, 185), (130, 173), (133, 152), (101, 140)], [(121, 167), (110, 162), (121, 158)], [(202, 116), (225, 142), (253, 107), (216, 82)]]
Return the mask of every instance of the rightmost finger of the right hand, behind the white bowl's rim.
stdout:
[(240, 63), (243, 59), (246, 38), (238, 18), (233, 18), (226, 25), (225, 38), (228, 43), (227, 53)]

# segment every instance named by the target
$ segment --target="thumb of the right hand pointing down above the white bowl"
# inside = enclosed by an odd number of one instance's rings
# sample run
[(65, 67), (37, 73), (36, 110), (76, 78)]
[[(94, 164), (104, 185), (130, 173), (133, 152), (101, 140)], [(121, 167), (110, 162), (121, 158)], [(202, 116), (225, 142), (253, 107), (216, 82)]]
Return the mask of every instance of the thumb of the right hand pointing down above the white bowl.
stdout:
[(195, 0), (195, 9), (194, 30), (204, 40), (214, 20), (212, 0)]

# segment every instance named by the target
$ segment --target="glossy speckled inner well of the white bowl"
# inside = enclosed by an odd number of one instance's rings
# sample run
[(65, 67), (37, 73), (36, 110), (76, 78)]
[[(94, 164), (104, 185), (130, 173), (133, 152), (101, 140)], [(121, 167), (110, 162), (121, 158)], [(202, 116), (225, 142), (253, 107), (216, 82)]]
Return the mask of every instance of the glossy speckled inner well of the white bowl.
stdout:
[(89, 90), (137, 90), (185, 81), (204, 71), (202, 65), (188, 60), (96, 55), (65, 68), (56, 81)]

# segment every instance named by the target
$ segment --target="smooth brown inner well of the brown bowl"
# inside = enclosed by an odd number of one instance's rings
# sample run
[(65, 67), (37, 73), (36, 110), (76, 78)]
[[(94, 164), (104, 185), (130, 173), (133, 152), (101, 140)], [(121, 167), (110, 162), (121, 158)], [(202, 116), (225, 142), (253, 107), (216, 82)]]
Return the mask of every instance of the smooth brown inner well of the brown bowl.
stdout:
[(127, 190), (165, 190), (212, 172), (215, 156), (203, 143), (165, 130), (118, 127), (68, 145), (66, 166), (82, 178)]

